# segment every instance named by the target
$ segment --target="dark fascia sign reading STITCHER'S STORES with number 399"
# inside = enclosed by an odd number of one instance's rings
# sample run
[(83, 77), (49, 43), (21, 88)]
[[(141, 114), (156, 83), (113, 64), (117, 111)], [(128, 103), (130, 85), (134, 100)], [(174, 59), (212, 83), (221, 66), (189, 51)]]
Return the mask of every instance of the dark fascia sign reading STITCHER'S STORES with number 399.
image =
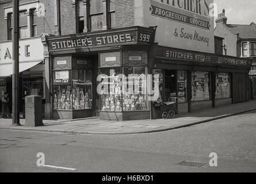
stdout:
[(131, 30), (129, 32), (120, 33), (102, 33), (93, 36), (89, 35), (77, 35), (74, 38), (65, 37), (63, 39), (58, 38), (55, 40), (49, 39), (49, 51), (56, 51), (60, 49), (77, 49), (77, 48), (92, 48), (103, 47), (111, 45), (125, 45), (125, 44), (137, 44), (137, 43), (152, 43), (152, 33), (137, 32), (137, 30)]

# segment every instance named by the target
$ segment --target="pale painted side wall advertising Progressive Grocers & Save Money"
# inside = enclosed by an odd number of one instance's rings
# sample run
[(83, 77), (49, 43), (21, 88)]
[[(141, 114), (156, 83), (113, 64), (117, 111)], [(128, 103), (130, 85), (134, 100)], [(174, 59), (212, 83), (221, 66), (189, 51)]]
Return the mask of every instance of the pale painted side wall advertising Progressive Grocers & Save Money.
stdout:
[(166, 47), (214, 53), (213, 0), (146, 0), (145, 26), (158, 26), (155, 42)]

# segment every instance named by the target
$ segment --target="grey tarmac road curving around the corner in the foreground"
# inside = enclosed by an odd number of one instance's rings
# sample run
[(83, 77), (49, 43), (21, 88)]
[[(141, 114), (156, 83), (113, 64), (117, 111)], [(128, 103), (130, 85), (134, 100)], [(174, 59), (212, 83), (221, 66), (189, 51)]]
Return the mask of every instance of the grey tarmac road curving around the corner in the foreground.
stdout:
[[(139, 135), (0, 130), (0, 172), (256, 172), (255, 132), (256, 112)], [(67, 168), (37, 166), (39, 152), (46, 165)], [(184, 160), (205, 164), (176, 166)]]

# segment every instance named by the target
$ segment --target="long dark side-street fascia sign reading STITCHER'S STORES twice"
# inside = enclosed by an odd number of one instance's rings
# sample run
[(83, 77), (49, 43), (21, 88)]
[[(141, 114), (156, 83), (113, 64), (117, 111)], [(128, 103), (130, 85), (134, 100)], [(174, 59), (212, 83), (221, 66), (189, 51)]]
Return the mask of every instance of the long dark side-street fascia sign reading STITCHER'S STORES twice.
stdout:
[(211, 64), (227, 64), (235, 66), (251, 66), (250, 59), (232, 56), (217, 56), (211, 53), (202, 53), (194, 51), (185, 51), (174, 48), (158, 48), (156, 57), (178, 60), (184, 62), (211, 63)]

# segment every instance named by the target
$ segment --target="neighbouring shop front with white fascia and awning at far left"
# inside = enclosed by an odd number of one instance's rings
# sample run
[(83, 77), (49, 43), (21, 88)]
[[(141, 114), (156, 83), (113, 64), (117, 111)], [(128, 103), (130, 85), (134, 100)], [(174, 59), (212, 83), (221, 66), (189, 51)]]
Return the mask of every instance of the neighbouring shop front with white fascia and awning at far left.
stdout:
[[(44, 48), (41, 37), (20, 40), (20, 112), (25, 117), (25, 97), (40, 95), (45, 102)], [(7, 92), (12, 101), (12, 41), (0, 43), (0, 97)], [(12, 109), (10, 103), (10, 109)], [(43, 108), (43, 116), (45, 115)]]

